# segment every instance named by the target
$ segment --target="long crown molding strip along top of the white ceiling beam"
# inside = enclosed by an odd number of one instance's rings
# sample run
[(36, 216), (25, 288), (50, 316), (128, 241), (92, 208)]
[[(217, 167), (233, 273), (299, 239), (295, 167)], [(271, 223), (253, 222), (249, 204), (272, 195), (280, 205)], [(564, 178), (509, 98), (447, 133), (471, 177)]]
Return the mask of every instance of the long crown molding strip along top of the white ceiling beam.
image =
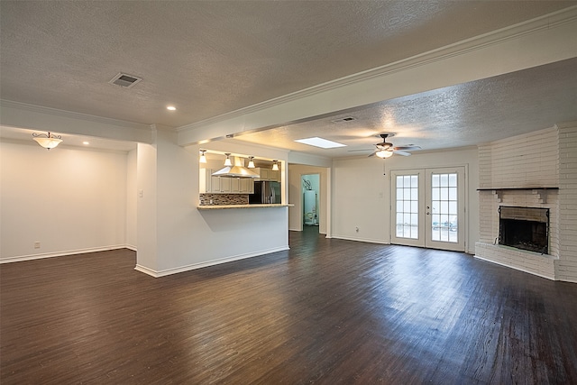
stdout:
[(565, 23), (572, 23), (575, 20), (577, 20), (577, 5), (564, 8), (552, 14), (545, 14), (543, 16), (536, 17), (535, 19), (531, 19), (526, 22), (513, 24), (508, 27), (501, 28), (499, 30), (487, 32), (479, 36), (472, 37), (471, 39), (458, 41), (456, 43), (441, 47), (439, 49), (429, 50), (427, 52), (412, 56), (408, 59), (394, 61), (392, 63), (385, 64), (383, 66), (374, 69), (367, 69), (365, 71), (358, 72), (353, 75), (349, 75), (343, 78), (337, 78), (284, 96), (275, 97), (255, 105), (249, 105), (223, 115), (217, 115), (212, 118), (208, 118), (193, 124), (186, 124), (177, 127), (176, 130), (179, 133), (195, 130), (208, 124), (216, 124), (224, 120), (234, 119), (235, 117), (239, 117), (242, 115), (252, 114), (264, 110), (266, 108), (282, 105), (307, 96), (314, 96), (316, 94), (330, 91), (335, 88), (360, 83), (362, 81), (366, 81), (367, 79), (387, 76), (396, 72), (426, 66), (427, 64), (431, 64), (436, 61), (446, 60), (454, 56), (463, 55), (465, 53), (474, 50), (482, 50), (491, 45), (499, 44), (503, 41), (513, 40), (531, 33), (552, 29)]

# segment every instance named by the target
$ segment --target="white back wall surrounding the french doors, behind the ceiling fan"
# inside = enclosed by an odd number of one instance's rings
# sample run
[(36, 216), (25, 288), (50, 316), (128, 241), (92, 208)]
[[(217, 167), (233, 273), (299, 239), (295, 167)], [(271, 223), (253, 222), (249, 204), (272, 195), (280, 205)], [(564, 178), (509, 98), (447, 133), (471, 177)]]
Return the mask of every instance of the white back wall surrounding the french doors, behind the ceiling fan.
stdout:
[[(389, 243), (390, 171), (467, 166), (467, 245), (474, 251), (479, 234), (479, 162), (476, 148), (414, 152), (393, 156), (334, 160), (332, 177), (332, 236), (358, 241)], [(386, 175), (383, 175), (386, 174)], [(357, 233), (355, 228), (359, 228)]]

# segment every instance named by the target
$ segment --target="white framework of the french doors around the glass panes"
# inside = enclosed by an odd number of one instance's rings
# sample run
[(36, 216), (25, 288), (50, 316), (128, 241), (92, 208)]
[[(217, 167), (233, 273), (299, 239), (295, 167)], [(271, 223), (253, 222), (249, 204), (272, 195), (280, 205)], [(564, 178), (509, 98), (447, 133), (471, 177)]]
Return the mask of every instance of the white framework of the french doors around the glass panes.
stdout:
[[(459, 237), (462, 237), (463, 243), (458, 243), (458, 247), (451, 247), (452, 243), (448, 242), (428, 242), (427, 238), (430, 238), (430, 230), (426, 230), (426, 226), (431, 225), (431, 215), (426, 215), (422, 210), (426, 209), (426, 206), (431, 206), (428, 200), (430, 199), (430, 183), (426, 182), (426, 178), (431, 170), (460, 170), (463, 172), (463, 186), (459, 186), (459, 193), (462, 194), (463, 198), (463, 218), (459, 218)], [(419, 202), (423, 202), (419, 205), (419, 231), (418, 239), (413, 240), (409, 238), (398, 238), (397, 234), (397, 181), (396, 177), (398, 175), (419, 175), (418, 179), (418, 199)], [(466, 252), (467, 250), (467, 240), (469, 235), (468, 223), (469, 223), (469, 210), (467, 209), (469, 205), (469, 167), (467, 164), (453, 165), (453, 166), (435, 166), (428, 168), (418, 168), (418, 169), (394, 169), (389, 170), (390, 175), (390, 202), (389, 202), (389, 212), (390, 212), (390, 232), (389, 232), (389, 243), (391, 244), (402, 244), (408, 246), (424, 247), (428, 249), (440, 249), (440, 250), (453, 250), (458, 252)], [(420, 178), (420, 177), (423, 178)], [(427, 234), (425, 234), (427, 232)], [(437, 243), (438, 242), (438, 243)], [(447, 245), (449, 245), (447, 247)]]

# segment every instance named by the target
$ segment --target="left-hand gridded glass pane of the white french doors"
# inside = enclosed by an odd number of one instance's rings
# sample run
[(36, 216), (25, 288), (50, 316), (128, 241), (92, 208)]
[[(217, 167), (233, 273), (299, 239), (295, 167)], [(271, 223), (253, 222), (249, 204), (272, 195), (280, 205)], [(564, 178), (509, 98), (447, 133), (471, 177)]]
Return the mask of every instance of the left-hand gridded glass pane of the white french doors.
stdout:
[(398, 238), (418, 238), (418, 175), (398, 175), (397, 180)]

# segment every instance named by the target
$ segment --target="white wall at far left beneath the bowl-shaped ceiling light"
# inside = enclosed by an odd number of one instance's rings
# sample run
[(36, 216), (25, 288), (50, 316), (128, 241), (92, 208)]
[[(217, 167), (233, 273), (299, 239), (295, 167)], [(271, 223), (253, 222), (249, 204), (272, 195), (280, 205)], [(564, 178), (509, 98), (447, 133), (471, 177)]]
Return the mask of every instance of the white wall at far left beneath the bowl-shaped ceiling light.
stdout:
[(125, 246), (125, 152), (4, 140), (0, 161), (0, 261)]

